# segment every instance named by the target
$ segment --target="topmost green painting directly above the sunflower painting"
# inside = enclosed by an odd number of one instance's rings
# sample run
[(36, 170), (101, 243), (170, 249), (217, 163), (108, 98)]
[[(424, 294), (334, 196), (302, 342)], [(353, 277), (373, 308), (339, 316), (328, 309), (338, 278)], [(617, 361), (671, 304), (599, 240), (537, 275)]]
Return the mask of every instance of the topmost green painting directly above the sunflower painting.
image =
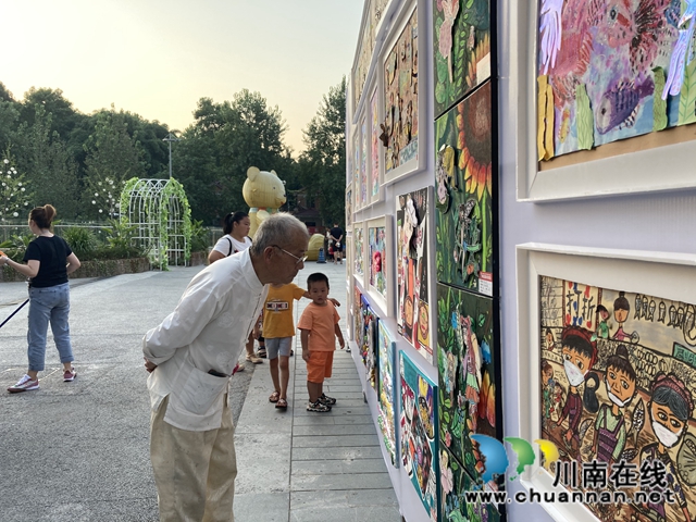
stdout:
[(490, 77), (490, 1), (433, 1), (435, 117)]

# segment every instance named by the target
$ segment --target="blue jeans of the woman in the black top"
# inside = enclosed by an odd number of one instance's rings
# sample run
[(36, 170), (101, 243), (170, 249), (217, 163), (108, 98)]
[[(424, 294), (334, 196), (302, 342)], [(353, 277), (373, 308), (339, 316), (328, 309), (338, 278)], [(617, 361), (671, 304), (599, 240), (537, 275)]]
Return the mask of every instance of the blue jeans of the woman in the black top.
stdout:
[(70, 344), (70, 286), (67, 283), (48, 288), (29, 288), (29, 370), (44, 371), (46, 362), (46, 336), (51, 323), (55, 348), (61, 362), (73, 362), (73, 347)]

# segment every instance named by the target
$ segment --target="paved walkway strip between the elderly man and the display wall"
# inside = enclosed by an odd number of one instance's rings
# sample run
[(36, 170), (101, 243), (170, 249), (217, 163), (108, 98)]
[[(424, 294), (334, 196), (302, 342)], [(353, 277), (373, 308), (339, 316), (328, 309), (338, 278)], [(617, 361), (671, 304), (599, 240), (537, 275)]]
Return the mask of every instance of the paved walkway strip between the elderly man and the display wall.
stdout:
[[(304, 287), (312, 272), (328, 276), (330, 297), (343, 304), (338, 311), (345, 332), (345, 265), (308, 263), (296, 283)], [(297, 318), (309, 302), (296, 301)], [(333, 376), (324, 383), (324, 391), (337, 399), (330, 413), (307, 411), (307, 370), (299, 335), (295, 353), (285, 412), (269, 402), (273, 384), (268, 363), (254, 369), (237, 423), (236, 522), (400, 521), (350, 353), (336, 351)]]

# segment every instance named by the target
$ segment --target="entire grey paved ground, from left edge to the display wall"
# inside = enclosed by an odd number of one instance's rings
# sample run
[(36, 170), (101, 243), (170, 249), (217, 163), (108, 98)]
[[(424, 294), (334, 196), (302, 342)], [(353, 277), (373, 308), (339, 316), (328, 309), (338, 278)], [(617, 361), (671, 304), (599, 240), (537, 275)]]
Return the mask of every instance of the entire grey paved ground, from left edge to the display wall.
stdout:
[[(344, 269), (308, 263), (297, 284), (325, 272), (332, 296), (345, 302)], [(26, 371), (28, 307), (0, 328), (0, 521), (158, 520), (140, 339), (174, 309), (199, 270), (71, 282), (73, 383), (63, 383), (49, 336), (40, 389), (7, 393)], [(0, 323), (25, 298), (23, 283), (0, 284)], [(346, 307), (339, 312), (345, 320)], [(299, 346), (296, 352), (286, 412), (268, 401), (268, 361), (247, 364), (232, 380), (237, 522), (399, 521), (352, 360), (336, 355), (326, 389), (338, 406), (310, 414)]]

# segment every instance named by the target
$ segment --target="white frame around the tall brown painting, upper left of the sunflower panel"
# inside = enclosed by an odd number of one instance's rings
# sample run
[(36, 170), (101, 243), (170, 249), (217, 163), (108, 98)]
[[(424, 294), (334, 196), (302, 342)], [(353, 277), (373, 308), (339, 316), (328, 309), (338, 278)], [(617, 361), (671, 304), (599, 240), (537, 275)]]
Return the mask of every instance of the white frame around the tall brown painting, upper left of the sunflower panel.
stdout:
[[(398, 13), (396, 17), (394, 27), (390, 28), (391, 37), (385, 41), (385, 45), (382, 48), (382, 53), (380, 55), (380, 62), (378, 62), (380, 70), (376, 72), (377, 87), (380, 89), (378, 102), (377, 102), (377, 107), (380, 109), (380, 112), (378, 112), (380, 122), (384, 122), (385, 120), (385, 110), (384, 110), (385, 92), (384, 91), (385, 91), (386, 82), (384, 78), (384, 67), (391, 49), (394, 48), (399, 37), (401, 36), (401, 33), (406, 28), (409, 20), (411, 18), (411, 15), (415, 12), (417, 26), (418, 26), (418, 57), (419, 57), (418, 58), (418, 78), (419, 78), (418, 111), (417, 111), (418, 123), (419, 123), (419, 128), (422, 128), (423, 125), (425, 125), (426, 128), (432, 126), (432, 122), (430, 124), (426, 123), (427, 104), (428, 104), (427, 97), (430, 96), (430, 91), (427, 89), (427, 85), (428, 85), (427, 75), (430, 74), (427, 64), (430, 62), (425, 60), (425, 57), (428, 55), (427, 53), (428, 53), (430, 44), (431, 44), (430, 41), (425, 41), (427, 39), (426, 37), (430, 35), (430, 29), (427, 27), (427, 21), (428, 21), (427, 9), (426, 9), (427, 5), (428, 5), (428, 2), (423, 2), (423, 1), (421, 2), (411, 1), (411, 2), (408, 2), (406, 5), (403, 5), (403, 8), (401, 9), (401, 11)], [(413, 158), (412, 160), (407, 161), (402, 165), (397, 166), (396, 169), (391, 169), (388, 172), (386, 170), (386, 164), (383, 158), (384, 146), (380, 145), (380, 153), (381, 153), (380, 167), (383, 174), (384, 185), (390, 185), (397, 179), (405, 178), (407, 176), (410, 176), (411, 174), (414, 174), (419, 171), (423, 171), (427, 167), (427, 157), (428, 157), (427, 142), (423, 142), (424, 140), (421, 139), (422, 137), (423, 136), (421, 136), (421, 133), (419, 132), (419, 144), (418, 144), (417, 157)]]

